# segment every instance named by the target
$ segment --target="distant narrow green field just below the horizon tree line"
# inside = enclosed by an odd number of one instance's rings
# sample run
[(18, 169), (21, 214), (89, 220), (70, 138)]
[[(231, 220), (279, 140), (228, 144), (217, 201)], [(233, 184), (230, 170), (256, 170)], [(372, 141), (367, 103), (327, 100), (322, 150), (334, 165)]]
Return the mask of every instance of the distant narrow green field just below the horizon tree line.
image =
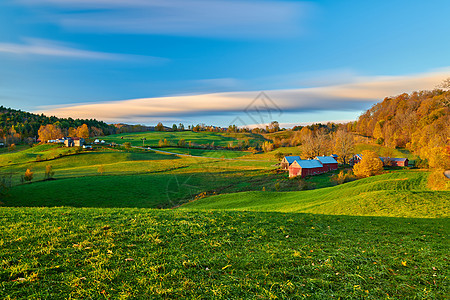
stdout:
[[(262, 143), (265, 139), (261, 135), (252, 133), (219, 133), (219, 132), (193, 132), (193, 131), (148, 131), (138, 133), (121, 133), (101, 137), (108, 143), (114, 142), (123, 144), (130, 142), (133, 146), (142, 146), (142, 139), (145, 138), (145, 146), (156, 147), (160, 140), (166, 139), (171, 145), (177, 145), (178, 141), (184, 139), (188, 144), (189, 141), (197, 145), (211, 145), (227, 147), (230, 142), (237, 146), (239, 141), (248, 141), (249, 144), (255, 145)], [(186, 144), (186, 145), (187, 145)]]

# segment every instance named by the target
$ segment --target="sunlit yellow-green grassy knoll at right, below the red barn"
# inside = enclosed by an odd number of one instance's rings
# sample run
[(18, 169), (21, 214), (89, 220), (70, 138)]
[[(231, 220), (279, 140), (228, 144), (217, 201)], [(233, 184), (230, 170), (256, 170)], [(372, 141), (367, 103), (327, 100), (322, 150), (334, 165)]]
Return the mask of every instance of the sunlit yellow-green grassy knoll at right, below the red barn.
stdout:
[(425, 172), (401, 171), (310, 191), (218, 195), (187, 203), (183, 208), (448, 217), (450, 191), (429, 191), (426, 179)]

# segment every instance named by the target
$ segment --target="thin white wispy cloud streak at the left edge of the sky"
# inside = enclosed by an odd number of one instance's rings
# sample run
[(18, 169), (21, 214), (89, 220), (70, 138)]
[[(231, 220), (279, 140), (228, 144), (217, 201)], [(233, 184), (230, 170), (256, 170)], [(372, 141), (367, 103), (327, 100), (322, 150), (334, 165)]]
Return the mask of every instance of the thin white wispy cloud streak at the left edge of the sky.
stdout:
[(15, 55), (40, 55), (53, 56), (77, 59), (92, 59), (92, 60), (138, 60), (143, 59), (150, 61), (164, 61), (164, 58), (151, 56), (136, 56), (126, 54), (116, 54), (107, 52), (88, 51), (77, 48), (72, 48), (65, 43), (49, 41), (36, 38), (24, 38), (24, 43), (0, 43), (0, 53), (8, 53)]

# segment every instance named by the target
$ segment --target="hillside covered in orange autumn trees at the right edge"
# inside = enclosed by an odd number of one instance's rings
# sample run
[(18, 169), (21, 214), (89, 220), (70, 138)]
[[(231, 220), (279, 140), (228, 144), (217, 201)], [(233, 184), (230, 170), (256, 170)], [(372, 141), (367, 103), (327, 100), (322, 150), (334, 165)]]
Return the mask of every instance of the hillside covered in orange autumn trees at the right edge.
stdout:
[(389, 148), (408, 148), (433, 168), (450, 168), (450, 91), (387, 97), (362, 114), (358, 133)]

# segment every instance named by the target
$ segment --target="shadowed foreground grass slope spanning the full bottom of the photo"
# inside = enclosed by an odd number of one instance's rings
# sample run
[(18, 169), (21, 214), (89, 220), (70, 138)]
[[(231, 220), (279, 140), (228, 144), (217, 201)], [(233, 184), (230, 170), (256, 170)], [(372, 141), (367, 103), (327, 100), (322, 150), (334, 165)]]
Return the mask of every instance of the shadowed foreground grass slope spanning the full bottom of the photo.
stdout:
[(3, 208), (2, 299), (442, 299), (448, 219)]

